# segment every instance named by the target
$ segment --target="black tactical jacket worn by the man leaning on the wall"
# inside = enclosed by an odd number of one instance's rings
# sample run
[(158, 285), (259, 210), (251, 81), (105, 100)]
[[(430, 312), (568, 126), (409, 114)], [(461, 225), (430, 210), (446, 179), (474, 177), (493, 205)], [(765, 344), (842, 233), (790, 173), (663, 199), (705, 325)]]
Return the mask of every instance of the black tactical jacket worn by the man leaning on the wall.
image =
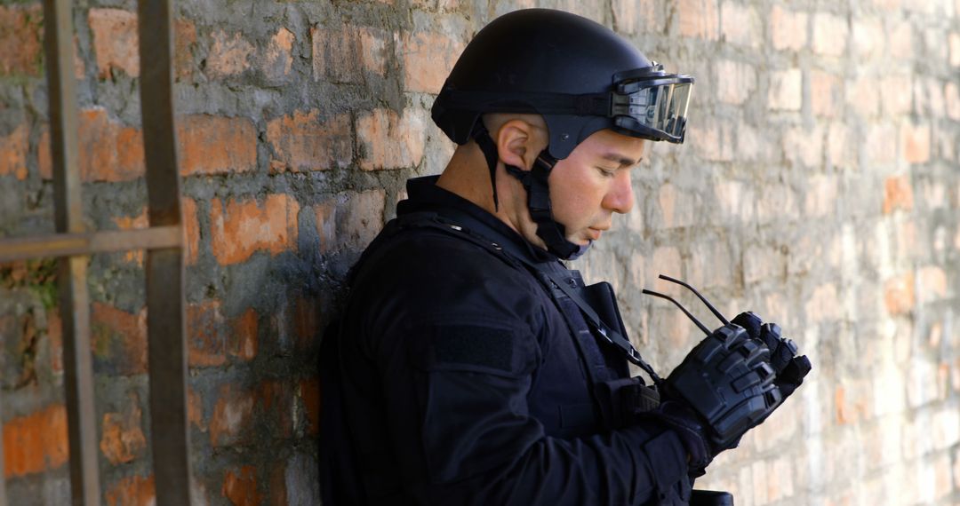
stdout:
[(579, 274), (434, 182), (408, 183), (355, 272), (339, 351), (349, 437), (328, 443), (356, 457), (366, 497), (348, 502), (685, 503), (674, 431), (605, 428), (594, 392), (627, 378), (623, 355), (515, 257)]

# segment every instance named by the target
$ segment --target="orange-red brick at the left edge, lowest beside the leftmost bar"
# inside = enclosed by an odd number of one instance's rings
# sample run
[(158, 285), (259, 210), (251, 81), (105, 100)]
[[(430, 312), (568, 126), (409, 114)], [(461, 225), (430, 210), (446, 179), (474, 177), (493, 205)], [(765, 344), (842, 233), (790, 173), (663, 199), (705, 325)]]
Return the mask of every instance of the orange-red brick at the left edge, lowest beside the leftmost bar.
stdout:
[(68, 456), (66, 408), (62, 404), (13, 418), (3, 426), (3, 469), (7, 478), (57, 469)]

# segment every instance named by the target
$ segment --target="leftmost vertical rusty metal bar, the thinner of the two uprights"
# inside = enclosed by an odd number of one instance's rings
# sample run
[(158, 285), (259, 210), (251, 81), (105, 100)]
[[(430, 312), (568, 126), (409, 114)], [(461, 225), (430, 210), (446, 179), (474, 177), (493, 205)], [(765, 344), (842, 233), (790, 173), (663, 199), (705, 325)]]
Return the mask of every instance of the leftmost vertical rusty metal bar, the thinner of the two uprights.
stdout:
[[(44, 0), (44, 49), (50, 100), (50, 140), (57, 231), (84, 232), (73, 77), (73, 25), (69, 0)], [(93, 359), (86, 257), (60, 259), (60, 318), (63, 322), (63, 379), (66, 388), (70, 486), (73, 504), (100, 504), (97, 424), (93, 405)]]

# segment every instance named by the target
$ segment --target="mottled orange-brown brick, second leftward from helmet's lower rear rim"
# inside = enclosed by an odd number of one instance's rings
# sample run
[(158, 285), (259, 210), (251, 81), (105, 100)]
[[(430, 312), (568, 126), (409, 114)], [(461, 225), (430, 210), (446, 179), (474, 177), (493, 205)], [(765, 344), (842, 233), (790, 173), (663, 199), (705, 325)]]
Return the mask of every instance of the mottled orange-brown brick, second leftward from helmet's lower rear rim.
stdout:
[(271, 120), (267, 142), (274, 150), (272, 172), (325, 171), (346, 168), (353, 161), (353, 136), (349, 114), (325, 121), (311, 109)]

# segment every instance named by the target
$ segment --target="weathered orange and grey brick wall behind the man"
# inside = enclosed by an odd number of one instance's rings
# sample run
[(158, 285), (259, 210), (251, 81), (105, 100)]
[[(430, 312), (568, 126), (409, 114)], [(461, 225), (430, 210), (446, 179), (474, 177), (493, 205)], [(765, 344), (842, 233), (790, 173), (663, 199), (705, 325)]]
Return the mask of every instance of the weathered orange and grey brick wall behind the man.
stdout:
[[(665, 373), (699, 339), (639, 294), (668, 273), (730, 315), (779, 321), (815, 364), (701, 485), (740, 505), (960, 501), (960, 1), (243, 0), (177, 7), (201, 502), (318, 502), (333, 293), (404, 179), (452, 152), (428, 111), (469, 36), (533, 6), (594, 18), (698, 80), (686, 144), (652, 146), (634, 213), (575, 265), (617, 288), (644, 355)], [(74, 12), (84, 218), (102, 230), (147, 222), (133, 12)], [(53, 231), (43, 26), (38, 2), (0, 1), (0, 237)], [(142, 265), (89, 268), (108, 504), (154, 495)], [(69, 494), (53, 272), (0, 265), (15, 504)]]

